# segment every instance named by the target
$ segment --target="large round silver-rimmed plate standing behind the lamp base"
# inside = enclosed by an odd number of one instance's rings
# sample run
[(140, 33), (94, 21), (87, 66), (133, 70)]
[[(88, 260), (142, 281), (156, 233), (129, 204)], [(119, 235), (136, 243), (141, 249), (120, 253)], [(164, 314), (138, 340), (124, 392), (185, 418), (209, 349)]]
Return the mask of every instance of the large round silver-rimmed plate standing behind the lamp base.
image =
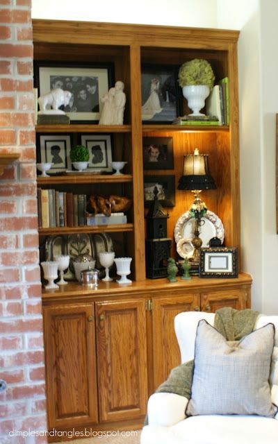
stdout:
[[(202, 217), (203, 225), (199, 227), (199, 237), (202, 239), (202, 247), (208, 247), (212, 237), (218, 237), (223, 244), (224, 227), (222, 221), (212, 211), (207, 211)], [(174, 240), (178, 244), (180, 239), (193, 239), (195, 230), (195, 218), (190, 212), (183, 213), (174, 227)], [(179, 252), (178, 252), (179, 253)]]

